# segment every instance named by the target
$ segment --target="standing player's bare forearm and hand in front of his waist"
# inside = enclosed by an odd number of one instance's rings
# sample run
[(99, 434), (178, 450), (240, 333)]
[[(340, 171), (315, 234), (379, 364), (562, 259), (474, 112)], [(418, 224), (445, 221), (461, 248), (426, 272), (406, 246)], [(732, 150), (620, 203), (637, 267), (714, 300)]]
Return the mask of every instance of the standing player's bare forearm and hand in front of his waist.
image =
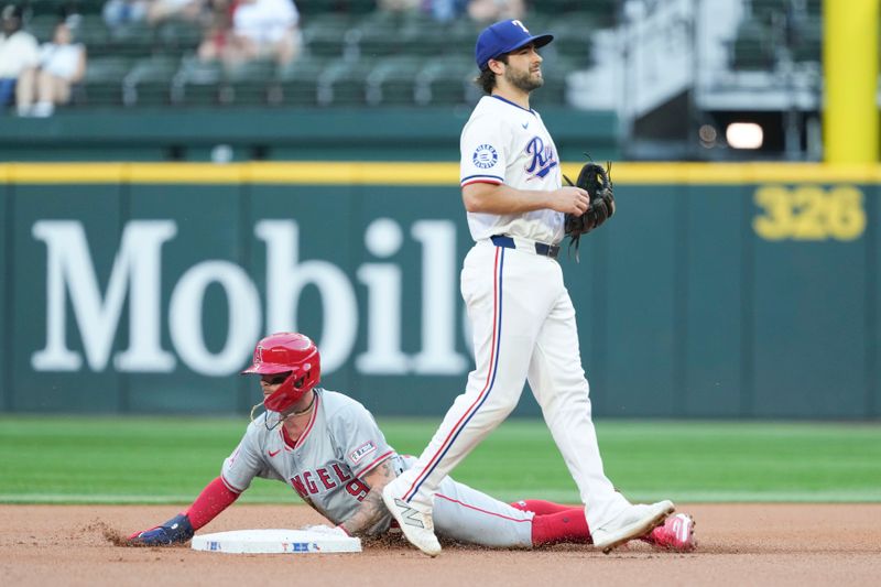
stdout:
[(563, 214), (584, 214), (590, 204), (580, 187), (564, 186), (553, 191), (516, 189), (505, 184), (475, 183), (461, 188), (465, 209), (485, 214), (523, 214), (552, 209)]

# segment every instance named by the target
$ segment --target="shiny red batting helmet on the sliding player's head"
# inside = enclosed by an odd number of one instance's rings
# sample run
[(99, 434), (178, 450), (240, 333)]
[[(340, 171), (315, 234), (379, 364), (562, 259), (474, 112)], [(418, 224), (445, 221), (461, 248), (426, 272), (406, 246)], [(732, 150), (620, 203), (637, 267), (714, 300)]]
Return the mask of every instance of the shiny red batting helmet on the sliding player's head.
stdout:
[(322, 358), (309, 337), (296, 333), (278, 333), (263, 338), (254, 347), (253, 365), (242, 374), (286, 373), (291, 376), (263, 401), (267, 410), (284, 412), (314, 388), (322, 378)]

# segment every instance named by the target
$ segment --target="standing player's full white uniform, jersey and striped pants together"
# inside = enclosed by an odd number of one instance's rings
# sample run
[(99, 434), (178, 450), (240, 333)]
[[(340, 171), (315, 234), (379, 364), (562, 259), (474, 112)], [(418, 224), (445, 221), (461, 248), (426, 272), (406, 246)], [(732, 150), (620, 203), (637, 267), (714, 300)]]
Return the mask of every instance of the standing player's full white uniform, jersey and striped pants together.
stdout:
[[(461, 134), (461, 185), (559, 187), (554, 142), (533, 110), (483, 97)], [(563, 215), (536, 210), (505, 216), (468, 214), (475, 246), (465, 257), (461, 295), (468, 309), (475, 370), (418, 460), (395, 481), (400, 499), (431, 511), (447, 475), (520, 401), (529, 381), (573, 479), (590, 528), (629, 502), (606, 477), (591, 420), (590, 385), (581, 368), (575, 307), (556, 259), (531, 239), (556, 244)], [(504, 242), (488, 237), (508, 235)], [(436, 515), (436, 511), (435, 511)]]

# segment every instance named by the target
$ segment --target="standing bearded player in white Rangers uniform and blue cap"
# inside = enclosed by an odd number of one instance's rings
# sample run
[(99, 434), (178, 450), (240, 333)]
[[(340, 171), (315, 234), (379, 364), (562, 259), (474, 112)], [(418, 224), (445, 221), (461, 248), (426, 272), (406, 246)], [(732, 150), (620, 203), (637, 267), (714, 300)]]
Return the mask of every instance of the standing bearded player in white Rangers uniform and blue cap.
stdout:
[(597, 547), (609, 552), (643, 536), (674, 511), (666, 500), (631, 504), (602, 469), (575, 309), (556, 261), (564, 215), (585, 213), (589, 196), (561, 187), (554, 141), (530, 108), (530, 94), (543, 84), (537, 50), (551, 41), (518, 20), (497, 22), (477, 40), (477, 81), (487, 96), (460, 140), (461, 195), (476, 241), (461, 294), (476, 368), (418, 461), (383, 490), (404, 535), (431, 556), (440, 552), (432, 519), (437, 491), (516, 406), (525, 381), (578, 486)]

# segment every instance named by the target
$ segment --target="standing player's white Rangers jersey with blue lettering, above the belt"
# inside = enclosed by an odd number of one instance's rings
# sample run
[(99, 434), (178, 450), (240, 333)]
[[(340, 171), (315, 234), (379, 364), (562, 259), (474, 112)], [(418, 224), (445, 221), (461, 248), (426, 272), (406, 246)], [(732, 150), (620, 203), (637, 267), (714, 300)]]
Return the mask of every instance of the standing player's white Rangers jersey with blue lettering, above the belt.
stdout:
[[(505, 184), (518, 189), (556, 189), (562, 172), (554, 140), (535, 110), (498, 96), (485, 96), (465, 124), (461, 186)], [(563, 240), (563, 214), (541, 209), (518, 215), (468, 213), (476, 241), (493, 235), (523, 237), (556, 244)]]

